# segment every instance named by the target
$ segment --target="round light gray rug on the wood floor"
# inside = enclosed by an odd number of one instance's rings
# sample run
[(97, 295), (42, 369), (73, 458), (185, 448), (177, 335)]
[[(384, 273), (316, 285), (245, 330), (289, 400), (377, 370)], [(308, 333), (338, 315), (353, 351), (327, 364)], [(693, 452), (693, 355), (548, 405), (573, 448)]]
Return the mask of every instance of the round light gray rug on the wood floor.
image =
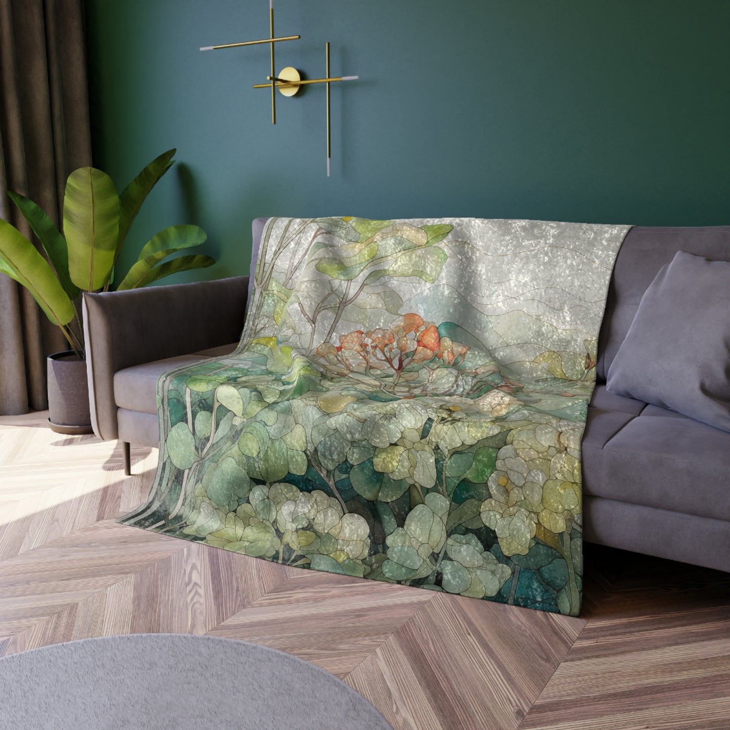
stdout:
[(0, 724), (34, 730), (392, 730), (344, 682), (248, 642), (82, 639), (0, 659)]

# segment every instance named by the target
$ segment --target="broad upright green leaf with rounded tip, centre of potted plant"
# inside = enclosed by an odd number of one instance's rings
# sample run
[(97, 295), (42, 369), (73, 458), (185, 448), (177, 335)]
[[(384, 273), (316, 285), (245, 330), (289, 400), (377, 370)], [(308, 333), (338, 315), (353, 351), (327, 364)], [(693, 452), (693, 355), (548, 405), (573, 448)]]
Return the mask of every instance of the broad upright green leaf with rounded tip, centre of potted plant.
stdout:
[(86, 291), (101, 289), (114, 266), (119, 234), (119, 196), (109, 175), (93, 167), (69, 175), (64, 234), (72, 282)]

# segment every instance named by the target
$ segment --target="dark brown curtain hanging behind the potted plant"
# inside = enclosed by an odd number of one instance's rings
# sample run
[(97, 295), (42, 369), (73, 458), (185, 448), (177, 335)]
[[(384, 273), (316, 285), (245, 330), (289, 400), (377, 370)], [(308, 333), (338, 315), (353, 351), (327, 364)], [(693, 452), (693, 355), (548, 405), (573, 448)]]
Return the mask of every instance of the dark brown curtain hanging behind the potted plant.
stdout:
[[(91, 164), (83, 0), (0, 0), (0, 218), (31, 231), (17, 191), (59, 221), (66, 177)], [(47, 407), (45, 357), (64, 337), (0, 274), (0, 415)]]

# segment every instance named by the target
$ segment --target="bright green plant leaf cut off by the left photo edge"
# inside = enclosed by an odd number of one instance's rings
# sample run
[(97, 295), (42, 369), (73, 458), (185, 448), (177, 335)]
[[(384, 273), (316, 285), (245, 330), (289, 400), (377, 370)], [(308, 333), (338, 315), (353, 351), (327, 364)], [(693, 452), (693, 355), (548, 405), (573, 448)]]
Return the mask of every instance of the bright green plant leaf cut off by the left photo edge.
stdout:
[(18, 228), (0, 220), (0, 271), (34, 296), (48, 319), (58, 326), (74, 318), (74, 305), (48, 262)]

